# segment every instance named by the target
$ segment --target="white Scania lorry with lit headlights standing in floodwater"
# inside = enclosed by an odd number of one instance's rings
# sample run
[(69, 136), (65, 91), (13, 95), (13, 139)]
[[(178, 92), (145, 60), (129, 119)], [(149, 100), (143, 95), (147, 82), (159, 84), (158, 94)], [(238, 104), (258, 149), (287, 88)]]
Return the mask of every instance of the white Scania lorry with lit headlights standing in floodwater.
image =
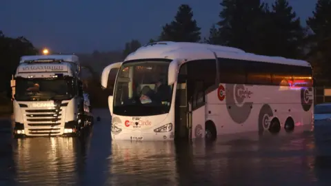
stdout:
[(75, 55), (22, 56), (11, 81), (15, 136), (79, 136), (93, 123)]

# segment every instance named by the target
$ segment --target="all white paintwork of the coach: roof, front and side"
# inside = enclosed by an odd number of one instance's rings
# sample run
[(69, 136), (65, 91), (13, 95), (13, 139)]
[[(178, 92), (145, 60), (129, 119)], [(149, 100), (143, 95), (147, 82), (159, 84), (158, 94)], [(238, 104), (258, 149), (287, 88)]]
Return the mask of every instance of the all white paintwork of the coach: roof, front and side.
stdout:
[[(141, 116), (139, 117), (143, 121), (152, 121), (152, 125), (148, 127), (130, 128), (126, 127), (126, 121), (132, 121), (134, 117), (132, 116), (117, 116), (112, 114), (112, 118), (119, 118), (121, 123), (112, 123), (112, 127), (117, 127), (121, 129), (121, 132), (114, 134), (112, 132), (112, 138), (117, 140), (130, 140), (130, 136), (142, 137), (140, 140), (172, 140), (170, 135), (174, 132), (174, 126), (172, 131), (157, 133), (153, 132), (154, 129), (165, 125), (167, 123), (174, 124), (174, 103), (175, 103), (175, 92), (177, 89), (177, 77), (174, 74), (178, 74), (180, 65), (183, 63), (189, 63), (192, 60), (198, 59), (214, 59), (215, 56), (213, 52), (219, 58), (227, 59), (242, 59), (246, 61), (261, 61), (267, 63), (279, 63), (288, 65), (299, 65), (310, 67), (310, 63), (307, 61), (295, 60), (295, 59), (285, 59), (279, 56), (261, 56), (257, 54), (246, 53), (243, 50), (236, 48), (228, 48), (217, 45), (207, 45), (201, 43), (176, 43), (176, 42), (158, 42), (155, 45), (145, 45), (139, 48), (136, 52), (129, 54), (123, 63), (137, 59), (172, 59), (170, 63), (168, 80), (169, 84), (174, 83), (174, 89), (172, 94), (172, 104), (170, 107), (169, 114), (163, 114), (158, 116)], [(176, 64), (177, 63), (177, 64)], [(106, 70), (106, 68), (105, 68)], [(104, 71), (105, 71), (104, 70)], [(109, 74), (109, 69), (107, 69)], [(107, 74), (107, 72), (105, 72)], [(107, 82), (104, 80), (108, 74), (101, 79), (103, 87)], [(223, 84), (225, 86), (225, 84)], [(236, 86), (236, 85), (234, 85)], [(226, 87), (226, 86), (225, 86)], [(311, 130), (313, 119), (313, 106), (308, 112), (303, 112), (301, 106), (301, 92), (300, 90), (281, 88), (277, 86), (263, 86), (263, 85), (252, 85), (247, 86), (253, 94), (250, 99), (245, 99), (246, 101), (252, 102), (252, 110), (248, 119), (241, 124), (235, 123), (230, 118), (227, 111), (227, 105), (225, 100), (219, 101), (217, 97), (217, 90), (210, 92), (205, 95), (206, 104), (200, 107), (198, 110), (194, 110), (192, 114), (192, 138), (195, 138), (194, 127), (201, 125), (205, 127), (205, 121), (213, 121), (217, 127), (217, 134), (236, 134), (241, 132), (257, 132), (259, 130), (258, 120), (259, 112), (263, 103), (268, 103), (273, 110), (273, 117), (277, 117), (281, 122), (281, 132), (283, 132), (283, 125), (286, 118), (289, 116), (294, 119), (295, 130)], [(226, 91), (226, 90), (225, 90)], [(311, 99), (313, 92), (310, 92)], [(108, 99), (109, 100), (109, 99)], [(110, 103), (110, 102), (108, 102)], [(239, 107), (241, 104), (236, 102)], [(110, 105), (112, 107), (112, 105)], [(111, 109), (110, 109), (111, 110)], [(240, 114), (240, 113), (239, 113)], [(203, 117), (204, 116), (204, 117)], [(269, 121), (272, 120), (269, 118)], [(118, 119), (117, 119), (118, 121)], [(203, 133), (204, 135), (204, 133)], [(165, 137), (163, 137), (165, 136)], [(134, 139), (132, 139), (134, 140)]]

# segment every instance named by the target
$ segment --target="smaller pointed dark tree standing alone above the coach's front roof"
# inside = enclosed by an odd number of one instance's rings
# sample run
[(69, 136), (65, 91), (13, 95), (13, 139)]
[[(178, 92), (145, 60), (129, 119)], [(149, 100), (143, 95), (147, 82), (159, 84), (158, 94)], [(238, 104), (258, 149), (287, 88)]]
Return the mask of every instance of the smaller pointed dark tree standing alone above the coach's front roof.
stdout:
[(201, 28), (193, 19), (192, 8), (188, 5), (179, 6), (174, 21), (163, 26), (159, 41), (198, 42)]

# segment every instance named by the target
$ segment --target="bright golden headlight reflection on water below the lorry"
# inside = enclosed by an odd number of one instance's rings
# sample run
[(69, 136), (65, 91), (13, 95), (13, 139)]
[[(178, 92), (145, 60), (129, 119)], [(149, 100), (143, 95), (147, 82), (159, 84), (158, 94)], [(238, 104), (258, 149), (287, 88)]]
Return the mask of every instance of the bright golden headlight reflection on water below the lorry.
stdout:
[(17, 182), (73, 184), (84, 169), (86, 138), (23, 138), (13, 142)]

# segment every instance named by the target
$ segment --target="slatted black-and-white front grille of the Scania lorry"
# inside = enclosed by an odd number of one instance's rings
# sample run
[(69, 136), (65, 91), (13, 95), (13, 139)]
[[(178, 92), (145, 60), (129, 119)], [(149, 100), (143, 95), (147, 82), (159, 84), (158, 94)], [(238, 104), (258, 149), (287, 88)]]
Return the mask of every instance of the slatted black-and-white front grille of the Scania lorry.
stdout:
[(26, 111), (26, 123), (28, 124), (28, 135), (45, 136), (59, 135), (61, 130), (62, 109), (31, 110)]

